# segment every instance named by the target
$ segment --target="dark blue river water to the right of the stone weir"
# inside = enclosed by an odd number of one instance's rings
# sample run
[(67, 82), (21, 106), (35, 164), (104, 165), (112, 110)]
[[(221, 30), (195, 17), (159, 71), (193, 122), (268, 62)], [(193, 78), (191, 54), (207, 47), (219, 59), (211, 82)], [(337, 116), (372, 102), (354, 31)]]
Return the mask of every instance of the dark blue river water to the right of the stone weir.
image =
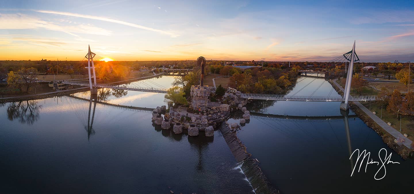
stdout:
[[(303, 79), (303, 80), (302, 80)], [(320, 84), (313, 96), (328, 96), (332, 86), (324, 79), (302, 77), (288, 95), (308, 96)], [(311, 82), (313, 81), (313, 82)], [(339, 96), (335, 90), (331, 96)], [(340, 102), (255, 101), (247, 105), (250, 112), (275, 115), (338, 116)], [(240, 113), (228, 122), (239, 123)], [(352, 111), (349, 115), (354, 115)], [(382, 138), (358, 117), (350, 117), (349, 138), (343, 118), (291, 119), (251, 116), (237, 136), (247, 151), (258, 158), (266, 177), (285, 194), (303, 193), (412, 193), (414, 160), (402, 160), (388, 148)], [(349, 139), (349, 141), (348, 141)], [(400, 164), (386, 165), (386, 176), (375, 180), (380, 169), (376, 164), (365, 164), (351, 177), (356, 157), (349, 160), (355, 149), (371, 152), (371, 158), (380, 162), (381, 148), (392, 153), (391, 160)], [(385, 157), (383, 153), (382, 158)], [(382, 159), (384, 160), (384, 159)], [(382, 164), (382, 163), (380, 163)], [(382, 169), (378, 172), (380, 178)]]

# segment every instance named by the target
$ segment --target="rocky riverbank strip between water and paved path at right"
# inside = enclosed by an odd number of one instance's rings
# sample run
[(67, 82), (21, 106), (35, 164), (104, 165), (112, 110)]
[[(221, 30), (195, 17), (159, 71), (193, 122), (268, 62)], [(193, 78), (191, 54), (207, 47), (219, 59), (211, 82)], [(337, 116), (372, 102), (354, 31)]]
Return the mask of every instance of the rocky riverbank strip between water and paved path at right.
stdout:
[[(333, 83), (336, 79), (329, 81), (332, 87), (337, 91), (339, 95), (344, 95), (344, 92), (335, 84)], [(397, 152), (402, 158), (407, 159), (409, 156), (411, 149), (407, 148), (406, 146), (399, 146), (397, 143), (394, 142), (395, 137), (388, 133), (383, 127), (378, 125), (371, 117), (369, 117), (361, 108), (359, 108), (354, 102), (349, 103), (350, 108), (354, 111), (354, 113), (368, 126), (371, 127), (387, 144), (388, 147), (392, 148), (395, 152)], [(339, 108), (339, 107), (338, 107)]]

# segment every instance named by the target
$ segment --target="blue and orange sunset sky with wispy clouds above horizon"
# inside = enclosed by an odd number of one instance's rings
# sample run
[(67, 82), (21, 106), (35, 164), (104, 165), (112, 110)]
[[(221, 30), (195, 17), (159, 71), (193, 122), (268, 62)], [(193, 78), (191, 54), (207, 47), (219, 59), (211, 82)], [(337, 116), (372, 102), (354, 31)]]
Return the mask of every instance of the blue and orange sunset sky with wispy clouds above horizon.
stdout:
[(0, 0), (0, 60), (414, 61), (414, 1)]

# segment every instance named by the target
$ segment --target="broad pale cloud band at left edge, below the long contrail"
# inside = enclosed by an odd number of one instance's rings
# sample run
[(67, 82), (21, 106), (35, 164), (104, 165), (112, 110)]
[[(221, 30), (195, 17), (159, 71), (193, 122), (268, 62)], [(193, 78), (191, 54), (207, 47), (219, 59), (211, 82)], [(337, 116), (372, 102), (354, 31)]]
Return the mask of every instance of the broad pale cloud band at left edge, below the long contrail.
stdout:
[(111, 34), (111, 31), (91, 25), (61, 26), (53, 22), (46, 22), (35, 17), (29, 17), (25, 14), (0, 14), (0, 29), (47, 29), (65, 32), (72, 36), (78, 36), (74, 33), (105, 36)]

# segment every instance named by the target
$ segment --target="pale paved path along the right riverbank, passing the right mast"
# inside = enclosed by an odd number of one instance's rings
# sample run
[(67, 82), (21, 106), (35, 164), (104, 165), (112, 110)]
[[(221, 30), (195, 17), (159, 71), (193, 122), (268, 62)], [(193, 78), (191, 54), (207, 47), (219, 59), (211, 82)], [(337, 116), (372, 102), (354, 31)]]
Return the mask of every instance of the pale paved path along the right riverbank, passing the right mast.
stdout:
[[(332, 80), (334, 82), (334, 84), (341, 89), (342, 91), (344, 91), (344, 89), (342, 88), (342, 86), (340, 86), (337, 82), (337, 79)], [(385, 129), (385, 131), (387, 131), (389, 134), (391, 134), (392, 136), (395, 137), (395, 139), (398, 139), (400, 137), (402, 137), (405, 141), (403, 142), (404, 146), (406, 146), (407, 148), (411, 148), (411, 144), (412, 141), (411, 139), (408, 139), (407, 137), (404, 137), (404, 135), (402, 135), (400, 133), (399, 130), (395, 129), (394, 127), (391, 127), (390, 125), (388, 125), (385, 121), (383, 121), (382, 119), (380, 119), (379, 117), (377, 117), (377, 115), (374, 115), (374, 113), (371, 112), (371, 110), (368, 110), (368, 108), (366, 108), (364, 105), (362, 105), (359, 102), (354, 102), (355, 105), (357, 105), (359, 108), (361, 108), (361, 110), (363, 112), (365, 112), (369, 117), (372, 118), (372, 120), (374, 120), (378, 125), (380, 125), (383, 129)]]

